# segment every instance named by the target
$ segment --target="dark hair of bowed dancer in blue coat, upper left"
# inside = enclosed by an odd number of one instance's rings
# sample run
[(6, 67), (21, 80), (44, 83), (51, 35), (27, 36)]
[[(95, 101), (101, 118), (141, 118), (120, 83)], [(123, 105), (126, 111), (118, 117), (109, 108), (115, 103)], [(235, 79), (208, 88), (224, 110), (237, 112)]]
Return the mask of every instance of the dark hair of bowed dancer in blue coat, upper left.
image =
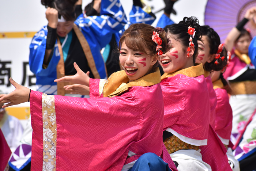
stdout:
[(76, 19), (75, 15), (75, 3), (78, 0), (41, 0), (41, 4), (45, 5), (45, 8), (55, 8), (58, 14), (63, 16), (67, 21)]

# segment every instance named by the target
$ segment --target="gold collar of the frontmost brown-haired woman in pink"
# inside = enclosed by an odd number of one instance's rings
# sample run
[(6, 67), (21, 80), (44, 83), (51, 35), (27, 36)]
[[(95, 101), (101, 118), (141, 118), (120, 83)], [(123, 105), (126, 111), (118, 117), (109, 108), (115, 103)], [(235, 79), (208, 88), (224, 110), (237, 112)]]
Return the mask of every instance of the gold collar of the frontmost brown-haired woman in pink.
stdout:
[[(142, 86), (142, 87), (153, 86), (161, 82), (160, 76), (161, 74), (160, 74), (159, 68), (155, 68), (154, 72), (148, 75), (145, 75), (138, 80), (129, 82), (129, 78), (126, 75), (124, 70), (115, 72), (108, 78), (108, 80), (106, 81), (103, 87), (103, 97), (117, 96), (123, 93), (124, 91), (127, 91), (129, 87), (133, 87), (133, 86)], [(128, 83), (128, 84), (126, 84), (121, 88), (118, 88), (122, 83)]]

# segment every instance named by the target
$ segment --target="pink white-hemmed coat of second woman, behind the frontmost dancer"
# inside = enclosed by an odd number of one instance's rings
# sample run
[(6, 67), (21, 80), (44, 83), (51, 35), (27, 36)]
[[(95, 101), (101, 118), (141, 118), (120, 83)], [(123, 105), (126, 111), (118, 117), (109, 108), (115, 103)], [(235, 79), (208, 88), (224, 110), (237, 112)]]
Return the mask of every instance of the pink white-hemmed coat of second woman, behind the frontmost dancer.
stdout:
[(165, 114), (163, 128), (191, 145), (206, 145), (210, 120), (204, 76), (178, 74), (161, 81)]

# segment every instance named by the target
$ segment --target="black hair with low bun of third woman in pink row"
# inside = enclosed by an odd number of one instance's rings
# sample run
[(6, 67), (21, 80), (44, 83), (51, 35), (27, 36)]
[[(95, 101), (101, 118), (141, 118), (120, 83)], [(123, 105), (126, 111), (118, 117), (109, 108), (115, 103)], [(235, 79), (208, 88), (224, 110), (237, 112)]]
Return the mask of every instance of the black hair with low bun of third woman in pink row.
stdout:
[[(210, 54), (216, 54), (218, 52), (219, 45), (221, 44), (221, 39), (216, 31), (213, 30), (210, 26), (202, 26), (202, 35), (207, 36), (207, 41), (210, 46)], [(224, 56), (224, 60), (221, 58), (218, 59), (218, 63), (215, 64), (216, 60), (211, 62), (206, 62), (204, 64), (206, 71), (221, 71), (227, 65), (227, 50), (223, 47), (223, 50), (220, 54), (220, 57)]]

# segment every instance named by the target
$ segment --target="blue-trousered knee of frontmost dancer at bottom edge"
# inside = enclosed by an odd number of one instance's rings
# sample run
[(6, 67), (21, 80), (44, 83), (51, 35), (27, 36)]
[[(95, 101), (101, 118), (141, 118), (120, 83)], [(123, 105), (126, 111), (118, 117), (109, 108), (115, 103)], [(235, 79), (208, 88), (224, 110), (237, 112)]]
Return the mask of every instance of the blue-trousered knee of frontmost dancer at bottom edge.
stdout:
[(172, 171), (161, 157), (154, 153), (145, 153), (139, 157), (128, 171)]

